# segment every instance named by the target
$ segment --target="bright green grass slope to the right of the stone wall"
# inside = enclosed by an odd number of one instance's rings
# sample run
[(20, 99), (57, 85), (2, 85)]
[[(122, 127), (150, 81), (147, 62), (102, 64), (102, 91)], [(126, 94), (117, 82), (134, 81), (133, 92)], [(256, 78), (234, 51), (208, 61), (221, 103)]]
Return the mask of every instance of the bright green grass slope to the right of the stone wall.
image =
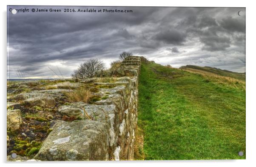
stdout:
[(146, 160), (245, 159), (245, 90), (142, 64), (138, 127)]

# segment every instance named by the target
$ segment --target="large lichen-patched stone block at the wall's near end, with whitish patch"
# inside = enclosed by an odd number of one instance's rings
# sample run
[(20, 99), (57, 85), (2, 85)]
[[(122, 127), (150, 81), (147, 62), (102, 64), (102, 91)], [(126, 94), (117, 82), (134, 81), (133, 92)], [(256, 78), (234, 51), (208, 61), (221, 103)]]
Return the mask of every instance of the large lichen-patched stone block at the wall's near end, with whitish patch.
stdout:
[(108, 160), (108, 124), (93, 120), (60, 121), (53, 129), (34, 159)]

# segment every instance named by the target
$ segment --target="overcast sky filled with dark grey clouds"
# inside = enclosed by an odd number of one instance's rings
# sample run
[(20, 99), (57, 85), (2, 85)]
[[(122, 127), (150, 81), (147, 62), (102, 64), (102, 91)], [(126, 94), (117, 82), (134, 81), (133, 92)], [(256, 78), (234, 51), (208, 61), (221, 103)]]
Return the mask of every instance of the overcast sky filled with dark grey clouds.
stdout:
[[(245, 72), (245, 8), (9, 6), (9, 77), (65, 77), (90, 58), (109, 67), (122, 51), (173, 67), (187, 64)], [(62, 12), (31, 12), (31, 9)], [(132, 13), (64, 12), (94, 8)], [(238, 15), (238, 12), (241, 11)]]

